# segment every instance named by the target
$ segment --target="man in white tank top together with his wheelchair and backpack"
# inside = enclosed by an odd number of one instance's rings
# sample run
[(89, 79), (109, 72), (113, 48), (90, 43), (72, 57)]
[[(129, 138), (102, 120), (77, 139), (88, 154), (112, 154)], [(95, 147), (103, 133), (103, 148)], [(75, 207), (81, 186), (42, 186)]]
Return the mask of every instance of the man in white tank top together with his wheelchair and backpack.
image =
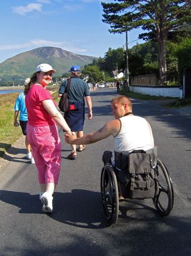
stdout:
[[(66, 143), (87, 145), (110, 135), (114, 138), (113, 150), (103, 154), (101, 172), (104, 211), (108, 220), (117, 220), (117, 201), (123, 197), (152, 198), (159, 214), (167, 216), (173, 207), (173, 187), (168, 170), (157, 159), (151, 126), (145, 118), (132, 113), (131, 99), (126, 96), (113, 98), (111, 108), (114, 120), (80, 138), (66, 134)], [(111, 212), (108, 205), (112, 205)]]

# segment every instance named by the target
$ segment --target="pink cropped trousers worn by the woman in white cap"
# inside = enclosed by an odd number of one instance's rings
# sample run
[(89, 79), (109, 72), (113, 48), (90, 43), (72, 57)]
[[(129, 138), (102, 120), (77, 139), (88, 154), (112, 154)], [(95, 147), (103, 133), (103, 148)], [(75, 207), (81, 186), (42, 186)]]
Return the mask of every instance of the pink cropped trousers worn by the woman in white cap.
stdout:
[(32, 147), (40, 184), (57, 184), (61, 165), (61, 142), (57, 125), (34, 127), (27, 124), (27, 135)]

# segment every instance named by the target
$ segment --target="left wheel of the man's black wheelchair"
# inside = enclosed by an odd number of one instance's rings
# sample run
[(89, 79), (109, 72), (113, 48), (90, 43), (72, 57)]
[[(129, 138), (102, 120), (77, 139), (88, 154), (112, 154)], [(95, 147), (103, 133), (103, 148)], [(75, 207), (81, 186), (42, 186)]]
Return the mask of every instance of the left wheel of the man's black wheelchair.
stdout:
[(115, 223), (119, 212), (118, 185), (114, 169), (110, 164), (106, 164), (101, 172), (101, 195), (105, 217), (111, 224)]

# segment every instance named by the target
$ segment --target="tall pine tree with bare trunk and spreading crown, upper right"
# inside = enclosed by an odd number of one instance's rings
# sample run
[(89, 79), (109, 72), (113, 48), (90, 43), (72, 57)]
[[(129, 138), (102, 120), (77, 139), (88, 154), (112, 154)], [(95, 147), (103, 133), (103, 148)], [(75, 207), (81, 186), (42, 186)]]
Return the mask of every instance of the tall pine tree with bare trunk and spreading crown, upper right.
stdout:
[(139, 38), (158, 42), (158, 64), (161, 85), (166, 84), (166, 41), (170, 32), (189, 28), (190, 0), (116, 0), (102, 2), (103, 22), (110, 24), (111, 33), (122, 33), (141, 27), (146, 33)]

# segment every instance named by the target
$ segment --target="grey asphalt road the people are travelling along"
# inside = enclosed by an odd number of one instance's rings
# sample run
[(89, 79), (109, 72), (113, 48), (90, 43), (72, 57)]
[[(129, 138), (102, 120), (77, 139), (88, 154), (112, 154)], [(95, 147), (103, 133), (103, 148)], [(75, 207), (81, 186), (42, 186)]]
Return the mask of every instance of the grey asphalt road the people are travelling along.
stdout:
[[(85, 132), (112, 119), (115, 89), (92, 93), (94, 116)], [(155, 211), (152, 200), (121, 202), (115, 225), (104, 219), (100, 195), (101, 156), (112, 138), (88, 145), (74, 161), (62, 149), (62, 173), (54, 194), (53, 214), (44, 214), (38, 200), (36, 168), (19, 154), (0, 174), (0, 255), (190, 255), (191, 120), (162, 102), (134, 100), (134, 113), (148, 119), (159, 158), (169, 168), (175, 204), (169, 217)], [(63, 133), (60, 131), (60, 137)]]

